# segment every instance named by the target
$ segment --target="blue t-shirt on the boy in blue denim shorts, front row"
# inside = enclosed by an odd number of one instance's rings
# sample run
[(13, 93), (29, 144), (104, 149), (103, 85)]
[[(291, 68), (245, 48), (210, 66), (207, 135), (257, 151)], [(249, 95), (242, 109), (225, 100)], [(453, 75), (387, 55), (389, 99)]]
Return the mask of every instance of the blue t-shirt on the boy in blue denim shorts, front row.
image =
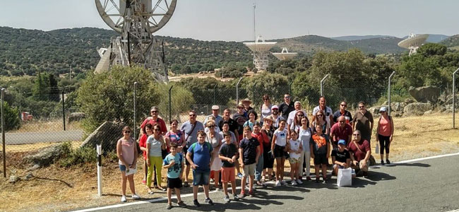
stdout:
[(193, 143), (191, 144), (190, 148), (188, 148), (188, 152), (191, 153), (191, 159), (193, 163), (196, 164), (196, 170), (200, 171), (210, 171), (210, 153), (212, 153), (213, 148), (212, 145), (208, 142), (204, 143)]

